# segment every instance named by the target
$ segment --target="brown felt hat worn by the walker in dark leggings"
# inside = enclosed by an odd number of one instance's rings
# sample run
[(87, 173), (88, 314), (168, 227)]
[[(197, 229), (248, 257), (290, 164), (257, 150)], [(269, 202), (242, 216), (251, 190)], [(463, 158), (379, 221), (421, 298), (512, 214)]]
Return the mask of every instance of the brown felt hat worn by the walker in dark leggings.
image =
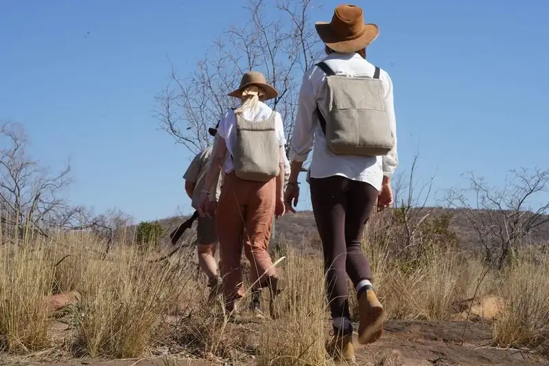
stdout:
[(320, 39), (336, 52), (357, 52), (379, 36), (379, 27), (364, 23), (362, 9), (356, 5), (339, 5), (330, 23), (314, 25)]

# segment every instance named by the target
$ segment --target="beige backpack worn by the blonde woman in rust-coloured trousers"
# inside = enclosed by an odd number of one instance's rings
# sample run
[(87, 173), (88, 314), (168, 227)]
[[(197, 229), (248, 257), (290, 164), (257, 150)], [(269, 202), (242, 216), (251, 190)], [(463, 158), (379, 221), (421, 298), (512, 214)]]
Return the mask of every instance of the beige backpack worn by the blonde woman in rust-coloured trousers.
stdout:
[(248, 121), (236, 115), (235, 174), (246, 181), (267, 182), (279, 175), (280, 147), (274, 115), (265, 121)]

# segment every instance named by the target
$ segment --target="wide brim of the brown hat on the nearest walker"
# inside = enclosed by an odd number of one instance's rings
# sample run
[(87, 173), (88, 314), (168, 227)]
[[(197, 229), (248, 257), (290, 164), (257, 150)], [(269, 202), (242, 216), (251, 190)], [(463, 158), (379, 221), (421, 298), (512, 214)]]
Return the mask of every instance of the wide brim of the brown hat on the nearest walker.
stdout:
[(336, 52), (358, 52), (379, 36), (379, 27), (372, 23), (364, 24), (365, 30), (362, 36), (348, 41), (336, 36), (331, 30), (330, 23), (318, 21), (314, 27), (318, 36), (320, 36), (320, 40)]

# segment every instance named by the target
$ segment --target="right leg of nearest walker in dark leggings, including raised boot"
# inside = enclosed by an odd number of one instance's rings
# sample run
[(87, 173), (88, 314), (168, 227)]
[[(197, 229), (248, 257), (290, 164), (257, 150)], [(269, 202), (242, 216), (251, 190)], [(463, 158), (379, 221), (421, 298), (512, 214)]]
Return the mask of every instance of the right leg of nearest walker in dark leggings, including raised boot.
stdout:
[(383, 333), (384, 310), (375, 296), (371, 284), (370, 263), (361, 247), (364, 227), (372, 214), (378, 194), (372, 185), (358, 181), (351, 181), (347, 192), (347, 273), (357, 292), (360, 314), (358, 341), (362, 344), (377, 341)]

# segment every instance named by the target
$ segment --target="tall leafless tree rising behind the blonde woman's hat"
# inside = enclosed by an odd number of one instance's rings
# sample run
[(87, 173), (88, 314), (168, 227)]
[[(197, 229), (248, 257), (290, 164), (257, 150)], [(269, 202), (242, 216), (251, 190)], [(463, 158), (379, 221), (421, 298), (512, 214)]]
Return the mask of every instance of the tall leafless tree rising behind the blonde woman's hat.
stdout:
[(303, 73), (322, 50), (309, 19), (313, 8), (312, 0), (250, 0), (247, 17), (213, 41), (195, 71), (180, 78), (172, 65), (170, 83), (156, 99), (161, 128), (189, 151), (200, 152), (212, 141), (207, 127), (235, 106), (227, 93), (242, 73), (257, 70), (279, 91), (270, 104), (281, 113), (290, 139)]

